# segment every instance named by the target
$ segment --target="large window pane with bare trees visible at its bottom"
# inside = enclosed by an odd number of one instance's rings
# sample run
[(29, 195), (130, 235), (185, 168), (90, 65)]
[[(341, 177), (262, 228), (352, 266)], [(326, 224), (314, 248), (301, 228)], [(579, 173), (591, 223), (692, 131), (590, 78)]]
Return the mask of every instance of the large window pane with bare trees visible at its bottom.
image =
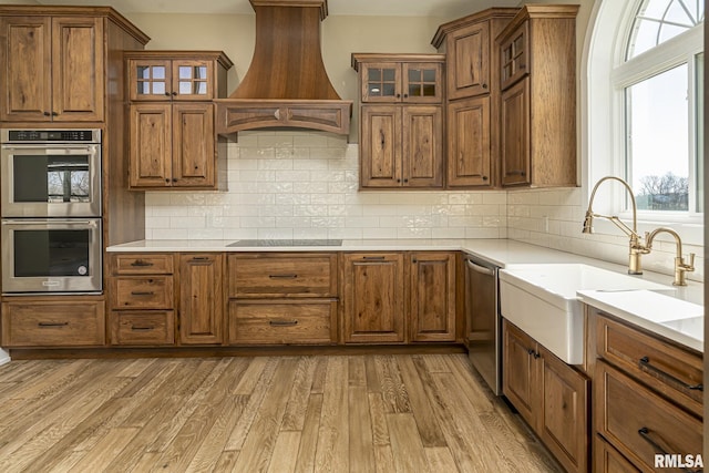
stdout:
[(638, 209), (688, 210), (687, 64), (626, 89), (628, 178)]

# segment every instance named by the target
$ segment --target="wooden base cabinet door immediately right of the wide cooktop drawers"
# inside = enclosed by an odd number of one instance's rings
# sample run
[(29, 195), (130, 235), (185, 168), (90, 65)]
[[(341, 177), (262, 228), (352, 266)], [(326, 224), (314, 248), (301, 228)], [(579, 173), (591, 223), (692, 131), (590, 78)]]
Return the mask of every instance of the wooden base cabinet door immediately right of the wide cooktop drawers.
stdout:
[(404, 342), (403, 254), (345, 254), (342, 273), (343, 341)]

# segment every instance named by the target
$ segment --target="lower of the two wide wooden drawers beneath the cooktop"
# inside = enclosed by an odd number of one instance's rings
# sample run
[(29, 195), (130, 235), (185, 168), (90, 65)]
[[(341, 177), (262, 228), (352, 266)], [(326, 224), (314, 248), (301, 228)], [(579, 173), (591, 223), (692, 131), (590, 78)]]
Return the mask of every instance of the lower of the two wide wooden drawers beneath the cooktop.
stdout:
[(232, 300), (229, 343), (333, 343), (337, 301)]

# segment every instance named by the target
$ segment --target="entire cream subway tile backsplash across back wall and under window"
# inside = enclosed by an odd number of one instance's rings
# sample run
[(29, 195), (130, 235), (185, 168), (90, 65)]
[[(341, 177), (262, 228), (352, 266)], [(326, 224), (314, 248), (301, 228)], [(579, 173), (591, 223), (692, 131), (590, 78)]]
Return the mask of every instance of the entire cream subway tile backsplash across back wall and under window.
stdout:
[[(147, 239), (511, 238), (627, 263), (628, 240), (583, 235), (580, 188), (358, 191), (358, 146), (319, 132), (243, 132), (227, 146), (219, 192), (146, 193)], [(703, 280), (703, 246), (689, 279)], [(675, 244), (657, 241), (648, 270), (671, 274)]]

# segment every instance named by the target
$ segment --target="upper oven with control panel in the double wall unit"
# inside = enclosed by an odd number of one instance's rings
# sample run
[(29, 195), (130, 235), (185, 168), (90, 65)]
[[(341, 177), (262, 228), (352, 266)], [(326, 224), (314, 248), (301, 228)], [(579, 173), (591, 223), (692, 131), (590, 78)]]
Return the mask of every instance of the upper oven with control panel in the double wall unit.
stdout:
[(101, 130), (1, 130), (3, 217), (101, 216)]

